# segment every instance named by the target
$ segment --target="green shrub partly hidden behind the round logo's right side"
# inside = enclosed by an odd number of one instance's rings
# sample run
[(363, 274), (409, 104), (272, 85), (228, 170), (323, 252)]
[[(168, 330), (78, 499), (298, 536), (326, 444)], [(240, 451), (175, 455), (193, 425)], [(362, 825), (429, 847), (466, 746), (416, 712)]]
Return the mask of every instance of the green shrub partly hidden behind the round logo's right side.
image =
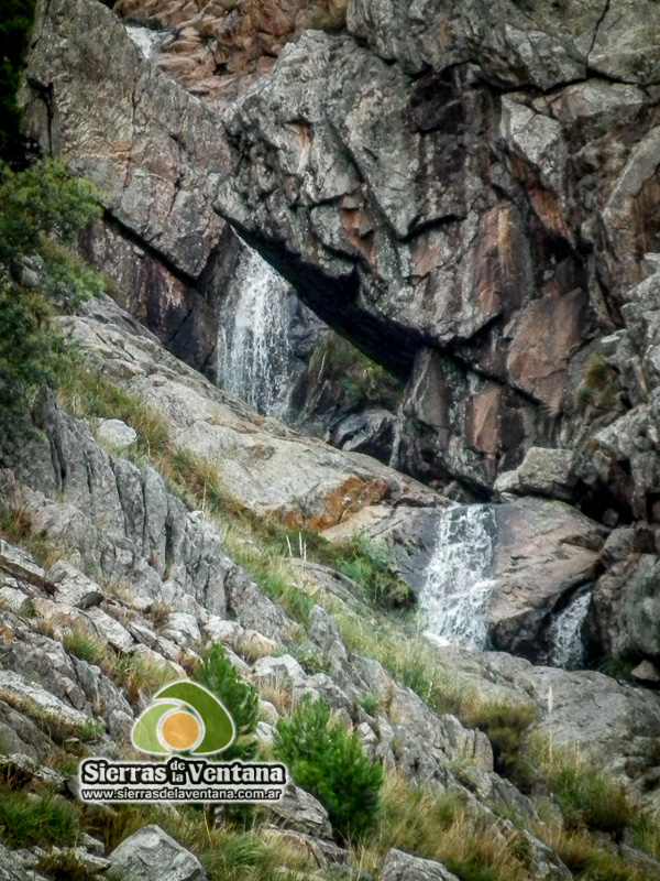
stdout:
[(234, 720), (237, 739), (221, 753), (222, 761), (254, 759), (257, 747), (254, 732), (260, 714), (258, 693), (243, 682), (222, 645), (216, 643), (202, 655), (195, 678), (209, 692), (218, 695)]

